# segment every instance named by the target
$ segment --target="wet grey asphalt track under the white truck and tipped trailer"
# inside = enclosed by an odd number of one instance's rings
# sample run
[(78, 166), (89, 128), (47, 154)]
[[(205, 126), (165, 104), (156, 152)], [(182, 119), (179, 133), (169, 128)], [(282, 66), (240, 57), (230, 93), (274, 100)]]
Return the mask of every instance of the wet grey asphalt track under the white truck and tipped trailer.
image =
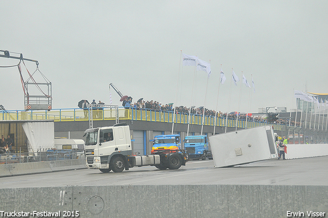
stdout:
[(82, 169), (1, 177), (2, 188), (89, 185), (328, 185), (328, 156), (270, 160), (214, 168), (212, 160), (190, 161), (178, 170), (134, 167), (121, 173)]

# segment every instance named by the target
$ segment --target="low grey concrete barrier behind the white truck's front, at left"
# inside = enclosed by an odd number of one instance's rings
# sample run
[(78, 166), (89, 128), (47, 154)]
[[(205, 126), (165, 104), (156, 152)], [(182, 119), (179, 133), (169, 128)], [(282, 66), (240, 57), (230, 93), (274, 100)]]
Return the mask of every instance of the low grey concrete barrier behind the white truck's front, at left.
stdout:
[(87, 168), (85, 158), (75, 160), (42, 161), (20, 164), (1, 164), (0, 177), (84, 168)]

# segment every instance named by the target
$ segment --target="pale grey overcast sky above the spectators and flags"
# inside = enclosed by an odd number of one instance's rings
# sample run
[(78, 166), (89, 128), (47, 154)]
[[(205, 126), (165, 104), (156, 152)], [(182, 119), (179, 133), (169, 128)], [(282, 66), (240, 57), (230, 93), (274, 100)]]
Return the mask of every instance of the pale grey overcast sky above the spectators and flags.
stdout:
[[(77, 108), (82, 99), (109, 104), (110, 83), (133, 102), (144, 97), (216, 109), (222, 67), (227, 81), (218, 110), (289, 111), (296, 108), (293, 89), (328, 93), (327, 11), (328, 1), (299, 0), (0, 0), (0, 50), (39, 62), (52, 83), (53, 109)], [(194, 67), (179, 67), (181, 50), (211, 63), (208, 83), (206, 72), (197, 71), (194, 80)], [(35, 63), (25, 63), (35, 71)], [(18, 60), (0, 57), (0, 66), (13, 64)], [(249, 82), (253, 75), (255, 93), (231, 84), (232, 69), (240, 80), (242, 73)], [(28, 79), (25, 68), (23, 76)], [(17, 67), (0, 68), (0, 81), (0, 104), (23, 110)], [(121, 105), (111, 93), (112, 104)]]

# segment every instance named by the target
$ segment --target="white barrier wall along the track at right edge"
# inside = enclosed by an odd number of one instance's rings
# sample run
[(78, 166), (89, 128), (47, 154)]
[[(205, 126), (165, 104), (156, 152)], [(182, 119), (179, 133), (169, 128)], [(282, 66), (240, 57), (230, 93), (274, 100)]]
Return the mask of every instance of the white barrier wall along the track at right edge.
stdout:
[(328, 144), (288, 144), (286, 146), (286, 159), (328, 155)]

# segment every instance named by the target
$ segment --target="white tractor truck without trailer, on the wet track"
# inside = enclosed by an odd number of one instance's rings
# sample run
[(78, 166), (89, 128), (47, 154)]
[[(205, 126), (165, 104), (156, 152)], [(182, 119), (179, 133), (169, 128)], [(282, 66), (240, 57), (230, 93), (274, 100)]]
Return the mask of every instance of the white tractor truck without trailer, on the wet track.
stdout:
[(178, 169), (186, 165), (185, 150), (158, 150), (152, 155), (132, 155), (130, 128), (125, 123), (85, 131), (85, 155), (89, 169), (122, 172), (134, 166)]

